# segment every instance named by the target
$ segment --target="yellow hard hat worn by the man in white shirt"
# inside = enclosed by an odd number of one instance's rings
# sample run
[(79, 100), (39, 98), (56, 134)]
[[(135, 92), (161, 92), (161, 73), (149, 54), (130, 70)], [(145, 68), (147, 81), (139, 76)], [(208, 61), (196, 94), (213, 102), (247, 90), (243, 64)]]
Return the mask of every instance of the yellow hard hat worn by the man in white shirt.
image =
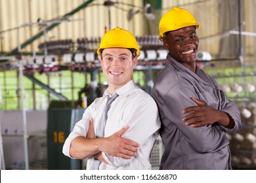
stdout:
[(100, 48), (97, 50), (98, 56), (101, 57), (100, 50), (104, 48), (132, 48), (135, 49), (135, 57), (138, 58), (140, 56), (135, 37), (129, 31), (120, 27), (111, 29), (102, 37)]

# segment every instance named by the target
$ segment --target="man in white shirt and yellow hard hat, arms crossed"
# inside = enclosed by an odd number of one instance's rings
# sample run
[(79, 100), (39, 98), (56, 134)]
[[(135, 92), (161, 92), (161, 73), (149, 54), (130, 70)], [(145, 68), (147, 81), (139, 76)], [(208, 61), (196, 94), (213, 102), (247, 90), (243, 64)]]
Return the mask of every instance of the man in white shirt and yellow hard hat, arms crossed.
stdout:
[[(104, 35), (97, 54), (108, 88), (75, 124), (63, 153), (70, 158), (88, 158), (87, 169), (151, 169), (150, 153), (160, 120), (154, 99), (133, 81), (133, 69), (140, 55), (137, 41), (129, 31), (116, 27)], [(104, 114), (108, 97), (116, 94)], [(106, 115), (100, 137), (102, 116)], [(95, 161), (100, 161), (96, 168)]]

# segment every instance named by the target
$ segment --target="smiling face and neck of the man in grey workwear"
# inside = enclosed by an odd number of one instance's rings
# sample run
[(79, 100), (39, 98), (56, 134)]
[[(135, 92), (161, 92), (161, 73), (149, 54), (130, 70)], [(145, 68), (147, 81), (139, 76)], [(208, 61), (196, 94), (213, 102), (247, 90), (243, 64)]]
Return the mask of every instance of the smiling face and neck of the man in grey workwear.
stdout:
[(194, 26), (170, 31), (163, 40), (163, 46), (175, 60), (195, 72), (199, 39)]

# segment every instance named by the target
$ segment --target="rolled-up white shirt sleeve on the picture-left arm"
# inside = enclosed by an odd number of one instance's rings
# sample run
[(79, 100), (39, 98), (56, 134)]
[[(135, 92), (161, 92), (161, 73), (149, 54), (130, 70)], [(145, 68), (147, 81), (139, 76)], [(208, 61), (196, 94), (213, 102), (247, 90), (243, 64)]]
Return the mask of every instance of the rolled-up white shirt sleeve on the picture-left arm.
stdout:
[(65, 156), (70, 156), (70, 144), (75, 139), (75, 137), (78, 136), (87, 136), (87, 132), (89, 129), (89, 120), (92, 117), (92, 108), (93, 108), (94, 103), (92, 103), (88, 108), (86, 108), (85, 112), (83, 113), (83, 117), (79, 122), (77, 122), (74, 126), (73, 131), (68, 135), (68, 138), (65, 140), (63, 148), (62, 148), (62, 153)]

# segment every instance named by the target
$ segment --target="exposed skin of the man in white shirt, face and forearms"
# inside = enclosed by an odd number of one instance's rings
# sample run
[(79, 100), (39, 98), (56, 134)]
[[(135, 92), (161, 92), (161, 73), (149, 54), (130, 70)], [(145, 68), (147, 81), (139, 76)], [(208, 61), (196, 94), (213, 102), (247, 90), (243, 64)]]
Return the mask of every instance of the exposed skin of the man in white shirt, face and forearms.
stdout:
[[(133, 68), (137, 65), (137, 58), (127, 48), (106, 48), (102, 52), (100, 64), (104, 76), (108, 80), (108, 92), (114, 95), (116, 91), (133, 78)], [(90, 119), (87, 137), (76, 137), (70, 145), (70, 156), (84, 159), (94, 156), (107, 163), (102, 152), (108, 156), (130, 159), (138, 152), (139, 144), (122, 138), (129, 127), (120, 129), (110, 137), (95, 138), (93, 119)]]

